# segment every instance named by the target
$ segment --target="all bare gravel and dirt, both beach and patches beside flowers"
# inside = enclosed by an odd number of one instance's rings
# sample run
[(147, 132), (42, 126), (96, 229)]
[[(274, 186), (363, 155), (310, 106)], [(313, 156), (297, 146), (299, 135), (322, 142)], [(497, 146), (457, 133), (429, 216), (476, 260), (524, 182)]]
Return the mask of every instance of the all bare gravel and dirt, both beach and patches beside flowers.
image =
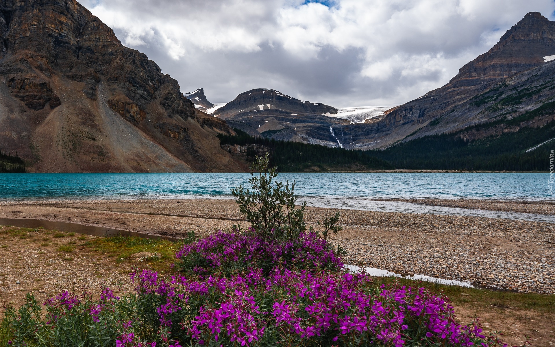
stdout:
[[(485, 205), (476, 200), (448, 200), (448, 203), (458, 204), (457, 207), (542, 214), (553, 208), (550, 203), (488, 202), (490, 205)], [(325, 213), (322, 208), (307, 208), (307, 223), (317, 227), (316, 220), (322, 219)], [(550, 296), (555, 293), (554, 224), (361, 210), (342, 210), (341, 213), (340, 223), (344, 230), (332, 235), (331, 240), (349, 252), (346, 263), (466, 280), (526, 293)], [(183, 237), (191, 230), (205, 234), (215, 228), (229, 229), (233, 224), (246, 225), (233, 200), (216, 199), (179, 200), (179, 203), (178, 200), (0, 203), (0, 218), (71, 222), (171, 237)], [(0, 240), (0, 244), (2, 242)], [(79, 254), (84, 258), (80, 258), (77, 265), (75, 261), (66, 264), (59, 257), (46, 265), (54, 253), (39, 254), (28, 240), (14, 240), (13, 243), (8, 248), (0, 248), (0, 274), (17, 273), (25, 280), (21, 281), (24, 286), (11, 291), (10, 300), (16, 300), (18, 294), (22, 298), (31, 290), (50, 293), (56, 288), (73, 285), (75, 279), (77, 283), (95, 284), (99, 283), (97, 276), (102, 276), (113, 282), (123, 278), (122, 274), (130, 269), (130, 264), (117, 264), (112, 259), (93, 260), (93, 255), (87, 256), (86, 252)], [(4, 259), (9, 261), (4, 262)], [(35, 281), (49, 279), (48, 276), (52, 280)], [(505, 340), (509, 344), (522, 344), (524, 334), (531, 336), (533, 346), (555, 343), (555, 316), (551, 313), (496, 306), (485, 308), (470, 299), (457, 303), (456, 309), (462, 320), (470, 321), (471, 316), (477, 314), (487, 329), (506, 331)]]

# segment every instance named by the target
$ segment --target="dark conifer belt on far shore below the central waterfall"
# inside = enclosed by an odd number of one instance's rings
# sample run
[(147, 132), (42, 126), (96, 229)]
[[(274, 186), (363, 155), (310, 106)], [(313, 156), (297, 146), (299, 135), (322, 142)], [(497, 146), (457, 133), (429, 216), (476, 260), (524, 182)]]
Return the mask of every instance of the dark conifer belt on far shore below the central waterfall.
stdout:
[[(314, 170), (366, 170), (392, 169), (384, 160), (377, 159), (374, 153), (361, 150), (330, 148), (322, 145), (289, 142), (254, 137), (242, 130), (234, 129), (237, 135), (219, 134), (220, 144), (262, 145), (270, 148), (270, 164), (277, 166), (280, 172), (303, 172)], [(255, 149), (246, 153), (252, 161)]]

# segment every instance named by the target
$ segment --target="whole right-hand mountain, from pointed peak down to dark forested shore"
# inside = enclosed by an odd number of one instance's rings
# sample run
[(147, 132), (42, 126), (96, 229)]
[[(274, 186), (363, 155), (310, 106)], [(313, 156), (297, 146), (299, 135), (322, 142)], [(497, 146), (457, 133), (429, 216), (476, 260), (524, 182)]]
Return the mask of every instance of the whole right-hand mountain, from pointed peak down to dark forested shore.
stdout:
[[(546, 171), (555, 143), (555, 22), (537, 12), (442, 88), (370, 124), (403, 169)], [(551, 157), (552, 158), (552, 157)]]

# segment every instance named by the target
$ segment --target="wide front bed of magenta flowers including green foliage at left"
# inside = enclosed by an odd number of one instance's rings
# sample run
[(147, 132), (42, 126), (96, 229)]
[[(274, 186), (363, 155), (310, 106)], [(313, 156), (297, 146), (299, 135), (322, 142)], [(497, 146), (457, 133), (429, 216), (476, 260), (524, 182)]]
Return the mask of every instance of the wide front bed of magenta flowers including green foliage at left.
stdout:
[[(117, 347), (183, 345), (445, 345), (490, 347), (475, 321), (461, 325), (442, 294), (397, 284), (377, 287), (364, 273), (278, 266), (268, 273), (251, 268), (232, 275), (161, 278), (142, 270), (131, 274), (136, 294), (123, 298), (101, 288), (100, 299), (87, 291), (63, 291), (41, 309), (28, 295), (11, 311), (14, 346), (39, 344)], [(63, 342), (63, 343), (60, 343)]]

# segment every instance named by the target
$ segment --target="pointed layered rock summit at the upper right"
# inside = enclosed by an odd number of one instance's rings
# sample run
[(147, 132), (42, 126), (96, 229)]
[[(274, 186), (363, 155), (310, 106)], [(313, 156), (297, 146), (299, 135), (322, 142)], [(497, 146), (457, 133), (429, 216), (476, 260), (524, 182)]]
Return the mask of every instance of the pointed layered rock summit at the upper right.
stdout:
[(448, 86), (476, 86), (511, 77), (538, 66), (555, 54), (555, 22), (530, 12), (509, 29), (495, 46), (463, 66)]

